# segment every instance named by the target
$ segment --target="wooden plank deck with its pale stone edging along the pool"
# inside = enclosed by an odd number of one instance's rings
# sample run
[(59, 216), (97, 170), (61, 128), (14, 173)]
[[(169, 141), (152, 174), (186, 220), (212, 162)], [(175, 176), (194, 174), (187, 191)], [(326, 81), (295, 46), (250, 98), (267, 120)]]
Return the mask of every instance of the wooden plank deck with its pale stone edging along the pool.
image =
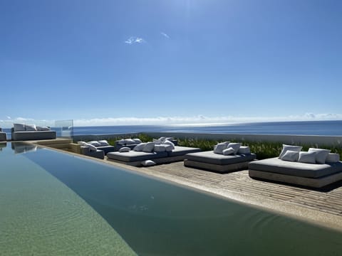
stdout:
[[(34, 143), (34, 142), (29, 142)], [(162, 181), (180, 186), (212, 193), (228, 200), (245, 203), (263, 210), (273, 211), (297, 218), (314, 225), (342, 231), (342, 186), (331, 191), (317, 191), (286, 184), (270, 183), (252, 179), (248, 170), (228, 174), (217, 174), (199, 169), (185, 167), (183, 162), (160, 164), (150, 167), (134, 167), (105, 159), (95, 159), (90, 156), (76, 154), (63, 149), (41, 145), (48, 149), (72, 154), (84, 159), (98, 161), (103, 164), (117, 166), (120, 169), (134, 171)], [(317, 198), (318, 202), (312, 203)], [(320, 205), (321, 202), (326, 205)]]

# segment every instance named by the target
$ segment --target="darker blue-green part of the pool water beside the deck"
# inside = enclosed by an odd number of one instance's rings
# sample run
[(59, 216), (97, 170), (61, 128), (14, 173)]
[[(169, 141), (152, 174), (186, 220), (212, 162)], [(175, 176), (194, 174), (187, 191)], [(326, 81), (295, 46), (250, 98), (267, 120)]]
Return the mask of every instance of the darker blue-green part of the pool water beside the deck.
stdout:
[(342, 249), (335, 230), (124, 169), (48, 149), (20, 156), (71, 188), (139, 255), (337, 255)]

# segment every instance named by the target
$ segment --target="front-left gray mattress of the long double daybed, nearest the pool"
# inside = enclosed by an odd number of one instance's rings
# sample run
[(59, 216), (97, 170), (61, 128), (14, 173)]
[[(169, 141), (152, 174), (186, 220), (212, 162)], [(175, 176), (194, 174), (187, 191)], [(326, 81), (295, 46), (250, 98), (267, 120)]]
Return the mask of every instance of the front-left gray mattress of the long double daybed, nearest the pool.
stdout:
[(144, 161), (150, 159), (157, 159), (161, 157), (167, 157), (167, 152), (141, 152), (141, 151), (129, 151), (129, 152), (109, 152), (107, 154), (109, 159), (118, 160), (118, 161), (125, 161), (125, 162), (132, 162), (132, 161)]

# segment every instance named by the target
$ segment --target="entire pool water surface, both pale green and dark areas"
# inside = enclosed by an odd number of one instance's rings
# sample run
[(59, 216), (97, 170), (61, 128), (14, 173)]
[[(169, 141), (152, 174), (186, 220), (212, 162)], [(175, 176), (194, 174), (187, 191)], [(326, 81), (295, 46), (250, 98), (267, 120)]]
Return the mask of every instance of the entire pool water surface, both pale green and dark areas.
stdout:
[(0, 151), (0, 254), (341, 255), (342, 233), (49, 149)]

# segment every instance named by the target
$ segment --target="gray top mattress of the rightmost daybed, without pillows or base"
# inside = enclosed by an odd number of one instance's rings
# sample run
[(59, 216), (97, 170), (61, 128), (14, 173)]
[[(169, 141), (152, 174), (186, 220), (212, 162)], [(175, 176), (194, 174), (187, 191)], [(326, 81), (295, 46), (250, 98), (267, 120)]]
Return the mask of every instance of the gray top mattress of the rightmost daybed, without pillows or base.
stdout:
[(253, 161), (249, 163), (248, 169), (306, 178), (318, 178), (342, 171), (342, 162), (340, 161), (329, 164), (305, 164), (283, 161), (278, 157), (275, 157)]

